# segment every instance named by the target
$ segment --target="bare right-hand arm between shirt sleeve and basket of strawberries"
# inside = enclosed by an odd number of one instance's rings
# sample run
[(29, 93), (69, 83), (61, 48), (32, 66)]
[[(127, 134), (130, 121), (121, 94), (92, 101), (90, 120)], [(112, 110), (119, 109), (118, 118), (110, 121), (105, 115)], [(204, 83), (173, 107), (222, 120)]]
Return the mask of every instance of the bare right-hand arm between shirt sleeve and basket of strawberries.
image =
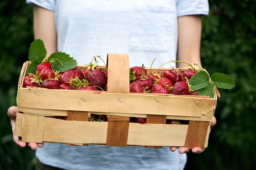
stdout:
[[(178, 17), (178, 49), (177, 60), (201, 64), (201, 15), (185, 15)], [(177, 63), (177, 68), (184, 63)]]

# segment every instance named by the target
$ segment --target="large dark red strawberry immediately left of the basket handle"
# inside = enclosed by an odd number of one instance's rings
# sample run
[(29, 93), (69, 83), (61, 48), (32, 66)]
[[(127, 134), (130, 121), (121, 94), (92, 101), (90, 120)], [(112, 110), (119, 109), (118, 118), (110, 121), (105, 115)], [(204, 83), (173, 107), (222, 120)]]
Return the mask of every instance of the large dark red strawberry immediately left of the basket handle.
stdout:
[(92, 86), (99, 86), (100, 88), (104, 88), (107, 83), (107, 77), (101, 68), (96, 68), (90, 73), (87, 77), (88, 82)]

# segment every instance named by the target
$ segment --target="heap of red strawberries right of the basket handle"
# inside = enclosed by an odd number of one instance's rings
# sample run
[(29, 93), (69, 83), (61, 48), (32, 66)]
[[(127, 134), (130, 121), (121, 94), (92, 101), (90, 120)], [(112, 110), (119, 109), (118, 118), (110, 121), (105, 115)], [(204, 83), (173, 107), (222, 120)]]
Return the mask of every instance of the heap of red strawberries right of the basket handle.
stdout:
[(189, 86), (189, 79), (196, 73), (179, 69), (166, 69), (162, 75), (147, 74), (145, 68), (134, 66), (130, 68), (130, 93), (158, 93), (174, 95), (198, 95)]

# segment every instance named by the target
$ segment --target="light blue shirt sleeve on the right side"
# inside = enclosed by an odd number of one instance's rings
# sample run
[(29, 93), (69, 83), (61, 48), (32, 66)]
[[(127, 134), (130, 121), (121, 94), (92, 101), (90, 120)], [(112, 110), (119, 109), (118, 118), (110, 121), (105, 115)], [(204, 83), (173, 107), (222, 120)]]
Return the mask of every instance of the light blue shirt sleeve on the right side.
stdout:
[(177, 17), (182, 15), (208, 15), (208, 0), (177, 0)]

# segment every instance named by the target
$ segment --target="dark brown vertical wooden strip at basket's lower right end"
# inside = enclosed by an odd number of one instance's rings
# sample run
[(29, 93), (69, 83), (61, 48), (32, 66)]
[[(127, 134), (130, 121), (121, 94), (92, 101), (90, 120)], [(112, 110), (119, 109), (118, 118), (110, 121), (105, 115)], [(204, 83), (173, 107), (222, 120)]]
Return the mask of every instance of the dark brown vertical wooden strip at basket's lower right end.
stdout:
[(186, 134), (185, 147), (193, 148), (195, 146), (204, 148), (209, 121), (189, 121), (189, 127)]

